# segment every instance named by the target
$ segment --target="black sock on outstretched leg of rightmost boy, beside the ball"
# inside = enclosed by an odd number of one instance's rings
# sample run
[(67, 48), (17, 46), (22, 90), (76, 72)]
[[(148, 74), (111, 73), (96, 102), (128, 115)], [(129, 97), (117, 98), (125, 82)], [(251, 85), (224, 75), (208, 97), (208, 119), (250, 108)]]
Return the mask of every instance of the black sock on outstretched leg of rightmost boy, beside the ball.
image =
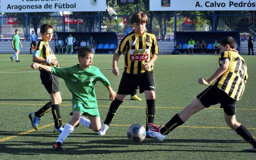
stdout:
[(162, 135), (167, 135), (169, 134), (173, 129), (175, 129), (176, 127), (180, 126), (181, 124), (183, 124), (184, 122), (180, 119), (179, 117), (179, 113), (177, 113), (176, 115), (174, 115), (172, 117), (172, 119), (165, 124), (165, 126), (163, 128), (160, 129), (160, 133)]

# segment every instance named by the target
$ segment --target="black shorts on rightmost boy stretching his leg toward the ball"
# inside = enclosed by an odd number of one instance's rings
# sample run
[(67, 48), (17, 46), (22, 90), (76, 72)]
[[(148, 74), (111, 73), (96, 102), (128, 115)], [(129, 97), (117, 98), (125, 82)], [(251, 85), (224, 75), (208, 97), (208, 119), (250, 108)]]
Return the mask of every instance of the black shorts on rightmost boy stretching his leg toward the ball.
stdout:
[(227, 115), (232, 116), (236, 114), (236, 100), (215, 86), (206, 88), (196, 97), (206, 108), (220, 103), (220, 108), (223, 108)]

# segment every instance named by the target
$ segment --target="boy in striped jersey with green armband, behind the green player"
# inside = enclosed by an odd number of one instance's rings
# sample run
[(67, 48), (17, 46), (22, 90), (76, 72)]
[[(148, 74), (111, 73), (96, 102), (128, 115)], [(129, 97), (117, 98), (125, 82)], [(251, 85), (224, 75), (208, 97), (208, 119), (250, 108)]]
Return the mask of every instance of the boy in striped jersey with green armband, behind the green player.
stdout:
[[(43, 24), (41, 26), (40, 33), (42, 36), (42, 40), (39, 40), (38, 44), (36, 45), (36, 50), (33, 54), (33, 62), (37, 62), (45, 66), (55, 66), (59, 68), (57, 58), (55, 57), (55, 54), (49, 45), (49, 41), (51, 41), (52, 39), (52, 32), (53, 27), (51, 25)], [(50, 94), (52, 101), (46, 103), (37, 112), (32, 112), (28, 115), (31, 120), (31, 124), (34, 129), (38, 130), (38, 122), (40, 120), (40, 117), (42, 117), (52, 109), (52, 116), (55, 124), (53, 131), (57, 133), (62, 132), (63, 127), (59, 107), (59, 105), (61, 104), (61, 96), (58, 77), (44, 71), (43, 69), (39, 69), (39, 71), (41, 81), (44, 84), (47, 92)]]

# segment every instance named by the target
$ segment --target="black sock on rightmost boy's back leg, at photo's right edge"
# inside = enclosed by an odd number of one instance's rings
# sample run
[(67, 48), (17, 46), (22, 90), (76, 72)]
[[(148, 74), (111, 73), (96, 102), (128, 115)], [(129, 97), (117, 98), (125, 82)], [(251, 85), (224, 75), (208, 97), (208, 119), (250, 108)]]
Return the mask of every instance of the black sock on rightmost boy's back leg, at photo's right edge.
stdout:
[(246, 142), (250, 143), (253, 148), (256, 148), (256, 139), (242, 124), (236, 129), (236, 133), (243, 137)]

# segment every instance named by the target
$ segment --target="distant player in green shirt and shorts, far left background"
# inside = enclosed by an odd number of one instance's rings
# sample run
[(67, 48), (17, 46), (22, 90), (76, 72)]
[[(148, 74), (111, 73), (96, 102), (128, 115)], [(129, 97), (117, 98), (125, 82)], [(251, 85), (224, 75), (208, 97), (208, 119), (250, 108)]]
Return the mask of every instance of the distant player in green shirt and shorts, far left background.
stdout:
[(22, 44), (20, 42), (20, 36), (18, 35), (19, 30), (15, 30), (15, 34), (12, 36), (12, 48), (15, 51), (15, 53), (11, 57), (11, 61), (13, 62), (13, 58), (16, 58), (16, 62), (20, 62), (18, 54), (20, 53), (20, 46), (22, 48)]

